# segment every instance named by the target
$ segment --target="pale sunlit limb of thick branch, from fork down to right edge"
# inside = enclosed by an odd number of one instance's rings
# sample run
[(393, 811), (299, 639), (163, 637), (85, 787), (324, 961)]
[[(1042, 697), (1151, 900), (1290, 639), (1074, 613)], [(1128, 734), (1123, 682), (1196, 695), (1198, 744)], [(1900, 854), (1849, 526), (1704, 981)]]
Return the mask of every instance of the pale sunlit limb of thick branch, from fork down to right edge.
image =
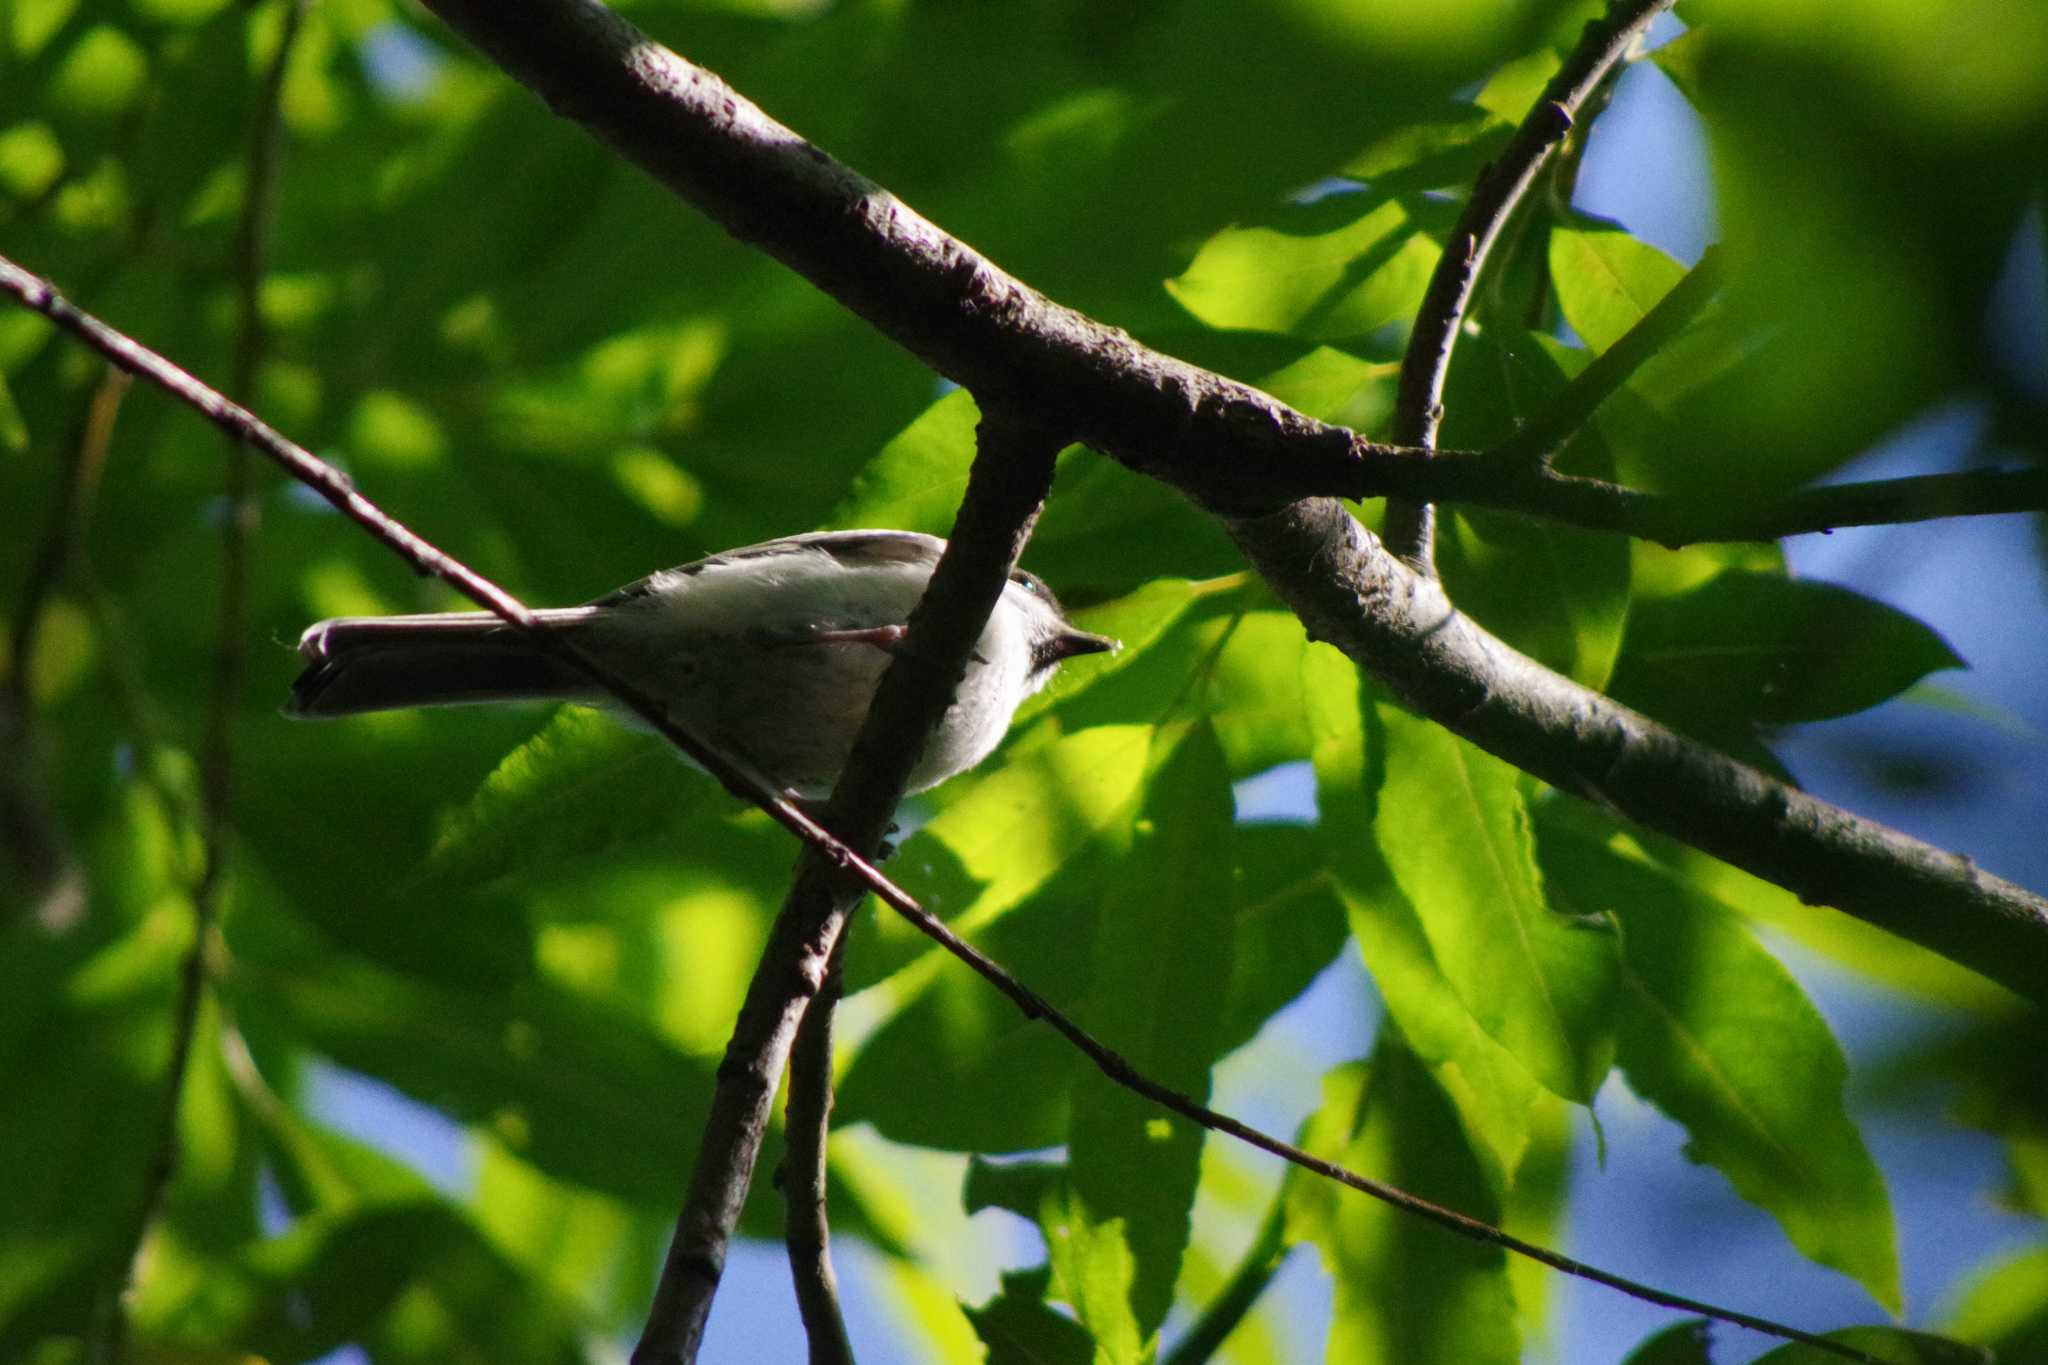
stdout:
[(1405, 704), (1550, 786), (2048, 1001), (2048, 898), (1737, 763), (1462, 616), (1327, 499), (1229, 524), (1327, 641)]

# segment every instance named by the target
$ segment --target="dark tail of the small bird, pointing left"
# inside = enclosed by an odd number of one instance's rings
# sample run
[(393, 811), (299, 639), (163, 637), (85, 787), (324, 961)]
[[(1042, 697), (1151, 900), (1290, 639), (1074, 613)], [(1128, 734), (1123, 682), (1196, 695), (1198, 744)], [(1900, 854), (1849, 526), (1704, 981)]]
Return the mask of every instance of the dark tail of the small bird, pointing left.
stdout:
[[(535, 612), (584, 624), (592, 608)], [(365, 710), (465, 702), (573, 700), (596, 694), (588, 677), (489, 612), (340, 616), (299, 636), (305, 671), (291, 684), (287, 716), (354, 716)]]

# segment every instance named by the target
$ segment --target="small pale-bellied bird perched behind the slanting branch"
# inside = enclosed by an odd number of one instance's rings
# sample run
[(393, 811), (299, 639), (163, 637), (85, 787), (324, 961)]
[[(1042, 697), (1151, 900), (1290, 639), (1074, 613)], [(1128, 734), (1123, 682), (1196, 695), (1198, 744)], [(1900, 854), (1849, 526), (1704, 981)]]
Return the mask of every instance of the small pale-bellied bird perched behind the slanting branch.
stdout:
[[(664, 569), (586, 606), (535, 612), (782, 790), (829, 796), (903, 622), (946, 542), (909, 530), (784, 536)], [(1116, 649), (1018, 569), (911, 772), (938, 786), (985, 759), (1061, 661)], [(340, 616), (299, 636), (289, 716), (604, 694), (489, 612)]]

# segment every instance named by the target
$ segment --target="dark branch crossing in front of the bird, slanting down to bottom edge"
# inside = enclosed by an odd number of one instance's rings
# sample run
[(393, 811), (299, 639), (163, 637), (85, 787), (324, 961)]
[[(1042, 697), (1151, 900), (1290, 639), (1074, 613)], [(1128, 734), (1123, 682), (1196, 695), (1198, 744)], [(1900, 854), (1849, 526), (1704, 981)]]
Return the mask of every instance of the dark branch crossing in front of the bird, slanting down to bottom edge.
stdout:
[[(881, 845), (911, 767), (952, 704), (975, 641), (1044, 503), (1059, 446), (1059, 438), (1036, 422), (985, 401), (967, 495), (946, 551), (874, 690), (827, 806), (825, 823), (862, 855)], [(891, 907), (918, 905), (879, 874), (870, 886)], [(633, 1365), (696, 1359), (768, 1128), (774, 1083), (860, 894), (862, 888), (815, 849), (805, 855), (719, 1064), (696, 1169)]]

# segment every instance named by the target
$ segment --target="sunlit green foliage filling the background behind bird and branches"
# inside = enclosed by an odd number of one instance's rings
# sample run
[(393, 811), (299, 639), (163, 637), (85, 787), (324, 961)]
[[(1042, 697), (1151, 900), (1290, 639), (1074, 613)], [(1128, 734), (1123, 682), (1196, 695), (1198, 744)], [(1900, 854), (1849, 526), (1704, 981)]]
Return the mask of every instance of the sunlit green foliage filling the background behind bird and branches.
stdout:
[[(1401, 321), (1454, 215), (1442, 190), (1499, 145), (1587, 12), (631, 6), (1053, 297), (1364, 430), (1391, 405)], [(1722, 0), (1679, 14), (1690, 33), (1630, 82), (1700, 115), (1726, 297), (1567, 458), (1702, 501), (1796, 487), (1903, 430), (1948, 438), (1890, 440), (1888, 458), (1915, 469), (2040, 458), (2042, 10)], [(281, 16), (217, 0), (16, 0), (0, 16), (0, 244), (209, 377), (229, 372), (248, 123)], [(250, 399), (455, 555), (532, 602), (575, 602), (809, 526), (946, 528), (971, 448), (965, 395), (416, 10), (313, 6), (283, 121)], [(1575, 170), (1511, 241), (1487, 329), (1460, 346), (1448, 444), (1511, 430), (1679, 276), (1563, 207)], [(18, 641), (98, 368), (6, 313), (0, 379), (0, 612)], [(8, 659), (31, 702), (8, 737), (10, 810), (37, 819), (12, 841), (0, 927), (4, 1359), (72, 1359), (127, 1261), (160, 1138), (203, 862), (221, 465), (213, 432), (129, 395), (61, 587), (35, 616), (35, 653)], [(2038, 608), (2038, 542), (2032, 561), (1991, 567), (1974, 546), (1997, 534), (1907, 528), (1884, 555), (1960, 567), (1958, 596), (2038, 641), (2042, 616), (2019, 608), (2030, 591)], [(1862, 1285), (1827, 1300), (1841, 1308), (1819, 1326), (1837, 1326), (1896, 1306), (1892, 1207), (1911, 1267), (1911, 1232), (1958, 1199), (1901, 1179), (1911, 1154), (1880, 1146), (1886, 1199), (1843, 1117), (1835, 1042), (1798, 980), (1853, 978), (1872, 1031), (1915, 1044), (1858, 1056), (1907, 1115), (1898, 1132), (1991, 1132), (2009, 1173), (1964, 1193), (2028, 1218), (1989, 1226), (1982, 1254), (1944, 1257), (1950, 1273), (1997, 1279), (1915, 1293), (1915, 1320), (2003, 1342), (2009, 1359), (2048, 1353), (2040, 1038), (2009, 1001), (1700, 857), (1618, 839), (1360, 696), (1348, 667), (1233, 577), (1241, 565), (1206, 518), (1106, 460), (1069, 452), (1030, 563), (1128, 649), (1075, 665), (1001, 765), (936, 794), (897, 864), (1026, 980), (1188, 1089), (1217, 1085), (1278, 1130), (1323, 1103), (1311, 1134), (1331, 1150), (1544, 1240), (1565, 1236), (1567, 1207), (1575, 1226), (1593, 1218), (1634, 1142), (1690, 1142), (1714, 1175), (1642, 1195), (1606, 1230), (1677, 1248), (1663, 1279), (1706, 1291), (1718, 1250), (1690, 1191), (1726, 1197), (1733, 1183), (1776, 1220), (1759, 1214), (1751, 1232), (1790, 1234), (1743, 1242), (1741, 1291), (1810, 1285), (1792, 1269), (1804, 1252)], [(2028, 726), (2044, 716), (2015, 731), (1980, 706), (2025, 712), (2034, 692), (2015, 679), (2038, 655), (2007, 655), (1991, 694), (1948, 688), (1954, 673), (1927, 688), (1956, 641), (1792, 579), (1761, 546), (1667, 553), (1456, 516), (1444, 571), (1462, 606), (1552, 667), (1751, 761), (1833, 776), (1847, 753), (1868, 772), (1841, 780), (1878, 780), (1866, 806), (1896, 802), (1929, 833), (1970, 810), (1972, 843), (1958, 831), (1954, 845), (2048, 884), (2048, 784), (2038, 765), (2001, 765), (2038, 759)], [(178, 1359), (602, 1359), (643, 1312), (791, 849), (645, 741), (578, 714), (285, 724), (274, 708), (307, 620), (444, 596), (274, 483), (248, 583), (231, 630), (250, 651), (231, 882), (137, 1334)], [(1788, 729), (1909, 686), (1821, 739)], [(1233, 821), (1233, 784), (1282, 765), (1288, 819)], [(2011, 776), (1970, 802), (1987, 774)], [(1272, 782), (1239, 786), (1239, 806)], [(31, 876), (37, 849), (55, 880)], [(1495, 855), (1503, 880), (1473, 884)], [(1534, 964), (1481, 952), (1503, 929), (1464, 915), (1499, 905), (1554, 939)], [(1561, 931), (1546, 907), (1614, 919)], [(1757, 927), (1800, 976), (1774, 966)], [(1079, 1328), (1038, 1306), (1042, 1277), (1012, 1281), (979, 1318), (961, 1308), (989, 1300), (997, 1263), (1040, 1259), (1032, 1228), (1051, 1232), (1053, 1297), (1112, 1357), (1139, 1353), (1169, 1304), (1174, 1340), (1243, 1254), (1278, 1175), (1188, 1134), (1155, 1140), (1143, 1113), (897, 925), (864, 917), (856, 943), (854, 984), (872, 988), (852, 1005), (836, 1224), (868, 1246), (852, 1252), (866, 1295), (893, 1306), (887, 1326), (856, 1324), (889, 1332), (874, 1351), (915, 1340), (950, 1359), (977, 1330), (1059, 1351)], [(1262, 1033), (1319, 974), (1311, 1005)], [(1571, 986), (1575, 1013), (1530, 1013), (1532, 980)], [(1675, 1042), (1720, 1048), (1704, 1081)], [(1614, 1058), (1632, 1089), (1608, 1076)], [(385, 1111), (334, 1105), (338, 1085), (360, 1089), (350, 1076), (459, 1124), (455, 1175), (428, 1162), (436, 1187), (391, 1160), (391, 1142), (344, 1136), (338, 1124)], [(1583, 1158), (1585, 1121), (1556, 1097), (1604, 1081), (1614, 1177)], [(1634, 1095), (1683, 1136), (1642, 1132)], [(1065, 1152), (1071, 1179), (969, 1166), (971, 1150)], [(973, 1220), (963, 1181), (971, 1205), (989, 1205)], [(1524, 1267), (1329, 1191), (1290, 1187), (1284, 1203), (1288, 1236), (1317, 1252), (1294, 1254), (1231, 1359), (1315, 1349), (1286, 1318), (1323, 1297), (1331, 1359), (1516, 1359), (1556, 1330)], [(774, 1216), (762, 1181), (752, 1228)], [(1614, 1261), (1612, 1246), (1587, 1236), (1579, 1250)], [(1391, 1293), (1389, 1275), (1417, 1265), (1427, 1273)], [(1583, 1312), (1649, 1330), (1608, 1300)], [(1780, 1312), (1808, 1320), (1800, 1304)], [(1450, 1322), (1464, 1334), (1446, 1338)], [(1716, 1359), (1755, 1349), (1729, 1342)]]

